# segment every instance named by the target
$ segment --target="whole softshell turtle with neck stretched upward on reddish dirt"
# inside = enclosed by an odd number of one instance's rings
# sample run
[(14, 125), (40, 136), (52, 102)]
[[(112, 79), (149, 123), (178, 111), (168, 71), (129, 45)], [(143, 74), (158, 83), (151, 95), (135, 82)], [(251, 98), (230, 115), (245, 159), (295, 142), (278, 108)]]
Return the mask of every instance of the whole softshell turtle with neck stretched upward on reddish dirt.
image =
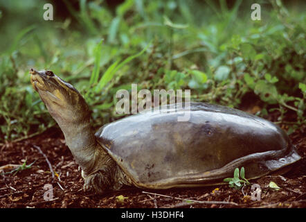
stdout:
[[(215, 185), (244, 167), (246, 178), (300, 160), (275, 124), (221, 105), (163, 107), (102, 126), (96, 134), (81, 94), (52, 71), (31, 69), (31, 83), (64, 133), (82, 168), (84, 187), (150, 189)], [(190, 112), (188, 121), (177, 117)]]

